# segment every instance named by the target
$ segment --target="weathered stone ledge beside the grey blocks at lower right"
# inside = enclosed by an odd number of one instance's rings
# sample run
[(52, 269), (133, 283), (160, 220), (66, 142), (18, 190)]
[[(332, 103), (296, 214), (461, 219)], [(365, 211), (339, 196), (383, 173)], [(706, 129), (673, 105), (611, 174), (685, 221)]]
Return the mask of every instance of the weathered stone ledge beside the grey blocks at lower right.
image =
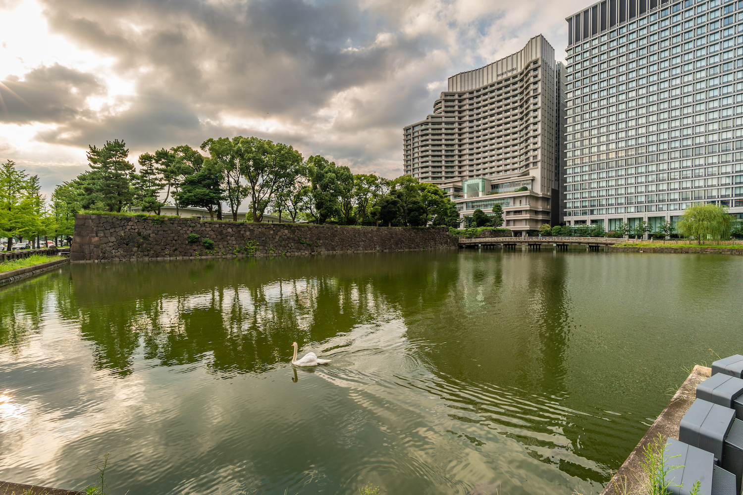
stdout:
[[(653, 422), (645, 436), (640, 439), (635, 450), (629, 454), (621, 468), (617, 470), (609, 484), (601, 492), (601, 495), (623, 495), (646, 493), (642, 489), (647, 482), (643, 471), (642, 459), (643, 448), (658, 436), (678, 440), (678, 430), (681, 418), (687, 413), (696, 399), (696, 386), (712, 376), (712, 369), (704, 366), (695, 366), (692, 374), (684, 381), (684, 384), (676, 391), (673, 399), (669, 402), (658, 419)], [(626, 488), (626, 490), (625, 490)]]

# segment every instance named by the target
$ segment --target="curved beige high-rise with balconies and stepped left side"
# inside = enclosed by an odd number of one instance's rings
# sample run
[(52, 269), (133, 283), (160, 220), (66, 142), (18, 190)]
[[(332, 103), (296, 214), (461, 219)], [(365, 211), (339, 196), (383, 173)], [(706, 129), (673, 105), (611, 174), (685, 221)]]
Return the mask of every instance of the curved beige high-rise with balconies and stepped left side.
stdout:
[(451, 76), (433, 113), (403, 128), (404, 173), (447, 191), (465, 220), (499, 203), (516, 232), (559, 222), (561, 71), (540, 35)]

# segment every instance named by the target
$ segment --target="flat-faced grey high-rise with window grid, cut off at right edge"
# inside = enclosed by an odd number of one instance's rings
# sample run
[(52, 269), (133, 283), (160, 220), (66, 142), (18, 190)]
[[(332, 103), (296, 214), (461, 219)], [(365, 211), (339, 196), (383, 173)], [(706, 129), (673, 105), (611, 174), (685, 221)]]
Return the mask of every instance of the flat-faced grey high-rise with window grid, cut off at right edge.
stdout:
[(743, 216), (743, 1), (603, 0), (567, 21), (565, 221)]

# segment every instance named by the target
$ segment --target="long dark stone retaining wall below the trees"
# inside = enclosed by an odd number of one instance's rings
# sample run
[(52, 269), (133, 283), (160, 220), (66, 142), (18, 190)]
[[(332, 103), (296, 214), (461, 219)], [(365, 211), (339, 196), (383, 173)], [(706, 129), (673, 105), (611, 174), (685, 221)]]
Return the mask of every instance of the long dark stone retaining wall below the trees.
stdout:
[[(199, 238), (189, 242), (189, 234)], [(210, 239), (208, 249), (202, 240)], [(134, 260), (210, 256), (312, 255), (456, 249), (447, 227), (357, 227), (212, 222), (197, 218), (78, 214), (70, 259)]]

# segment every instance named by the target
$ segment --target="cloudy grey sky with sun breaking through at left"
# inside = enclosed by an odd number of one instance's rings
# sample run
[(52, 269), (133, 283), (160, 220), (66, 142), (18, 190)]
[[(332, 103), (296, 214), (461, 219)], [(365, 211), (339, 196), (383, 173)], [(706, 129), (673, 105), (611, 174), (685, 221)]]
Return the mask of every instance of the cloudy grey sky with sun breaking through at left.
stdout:
[(447, 76), (542, 33), (564, 58), (585, 0), (0, 0), (0, 160), (43, 190), (88, 145), (258, 136), (401, 173), (401, 128)]

